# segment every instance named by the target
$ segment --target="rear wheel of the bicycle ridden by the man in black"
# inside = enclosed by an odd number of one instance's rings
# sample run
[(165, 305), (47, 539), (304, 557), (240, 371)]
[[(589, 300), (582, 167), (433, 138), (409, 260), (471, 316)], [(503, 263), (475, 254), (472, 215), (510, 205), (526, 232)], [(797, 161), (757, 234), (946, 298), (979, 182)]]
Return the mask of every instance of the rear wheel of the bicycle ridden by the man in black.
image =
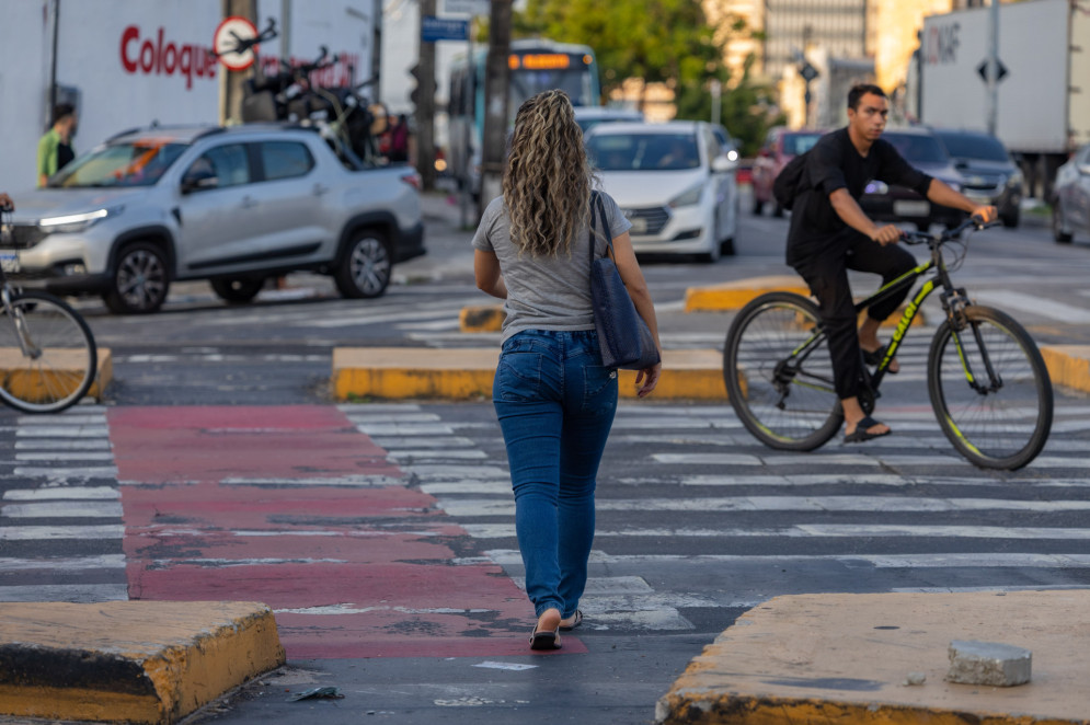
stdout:
[(817, 307), (791, 292), (761, 295), (734, 319), (723, 381), (743, 425), (766, 446), (813, 450), (844, 422)]

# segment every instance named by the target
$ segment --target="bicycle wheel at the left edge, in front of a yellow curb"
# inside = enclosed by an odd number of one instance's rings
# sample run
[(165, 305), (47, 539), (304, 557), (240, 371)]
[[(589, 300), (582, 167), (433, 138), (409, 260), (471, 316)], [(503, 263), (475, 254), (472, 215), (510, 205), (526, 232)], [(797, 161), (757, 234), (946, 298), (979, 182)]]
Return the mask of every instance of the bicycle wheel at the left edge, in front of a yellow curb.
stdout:
[(0, 309), (0, 399), (24, 413), (56, 413), (94, 382), (99, 357), (87, 322), (44, 292), (12, 296)]

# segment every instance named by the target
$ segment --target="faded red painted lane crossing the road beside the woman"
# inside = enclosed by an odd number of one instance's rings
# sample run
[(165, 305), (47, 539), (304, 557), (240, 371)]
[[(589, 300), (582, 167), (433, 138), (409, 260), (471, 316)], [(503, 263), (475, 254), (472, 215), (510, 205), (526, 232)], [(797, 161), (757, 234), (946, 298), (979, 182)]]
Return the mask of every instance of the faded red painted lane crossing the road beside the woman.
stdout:
[[(306, 483), (403, 479), (336, 408), (115, 408), (108, 419), (130, 484), (134, 599), (263, 601), (294, 658), (527, 654), (525, 594), (498, 566), (452, 562), (451, 545), (472, 540), (434, 498)], [(239, 479), (286, 485), (225, 483)], [(565, 637), (561, 652), (586, 648)]]

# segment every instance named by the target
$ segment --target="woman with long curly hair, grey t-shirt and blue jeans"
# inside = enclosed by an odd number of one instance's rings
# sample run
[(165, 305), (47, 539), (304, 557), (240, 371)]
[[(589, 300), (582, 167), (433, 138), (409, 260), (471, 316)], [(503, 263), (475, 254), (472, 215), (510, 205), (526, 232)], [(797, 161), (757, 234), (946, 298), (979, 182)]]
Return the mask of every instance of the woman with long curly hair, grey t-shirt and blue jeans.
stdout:
[[(559, 649), (560, 630), (583, 620), (594, 540), (598, 462), (617, 410), (617, 370), (603, 367), (590, 307), (590, 186), (583, 134), (567, 95), (546, 91), (515, 117), (503, 196), (473, 238), (477, 286), (506, 300), (492, 399), (515, 492), (515, 529), (526, 594), (537, 625), (531, 649)], [(632, 301), (658, 345), (655, 310), (628, 230), (607, 194), (604, 225)], [(662, 365), (636, 373), (638, 394), (655, 389)]]

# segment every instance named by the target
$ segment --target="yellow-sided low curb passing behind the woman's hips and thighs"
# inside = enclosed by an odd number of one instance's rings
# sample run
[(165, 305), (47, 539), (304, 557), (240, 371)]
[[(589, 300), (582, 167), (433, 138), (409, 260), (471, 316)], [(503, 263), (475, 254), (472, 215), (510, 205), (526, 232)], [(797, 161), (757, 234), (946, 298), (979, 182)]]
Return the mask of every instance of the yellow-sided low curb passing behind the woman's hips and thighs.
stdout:
[[(498, 348), (337, 347), (333, 394), (339, 400), (491, 400), (498, 358)], [(726, 400), (722, 366), (716, 350), (666, 350), (651, 400)], [(620, 371), (621, 398), (635, 396), (635, 376)]]

